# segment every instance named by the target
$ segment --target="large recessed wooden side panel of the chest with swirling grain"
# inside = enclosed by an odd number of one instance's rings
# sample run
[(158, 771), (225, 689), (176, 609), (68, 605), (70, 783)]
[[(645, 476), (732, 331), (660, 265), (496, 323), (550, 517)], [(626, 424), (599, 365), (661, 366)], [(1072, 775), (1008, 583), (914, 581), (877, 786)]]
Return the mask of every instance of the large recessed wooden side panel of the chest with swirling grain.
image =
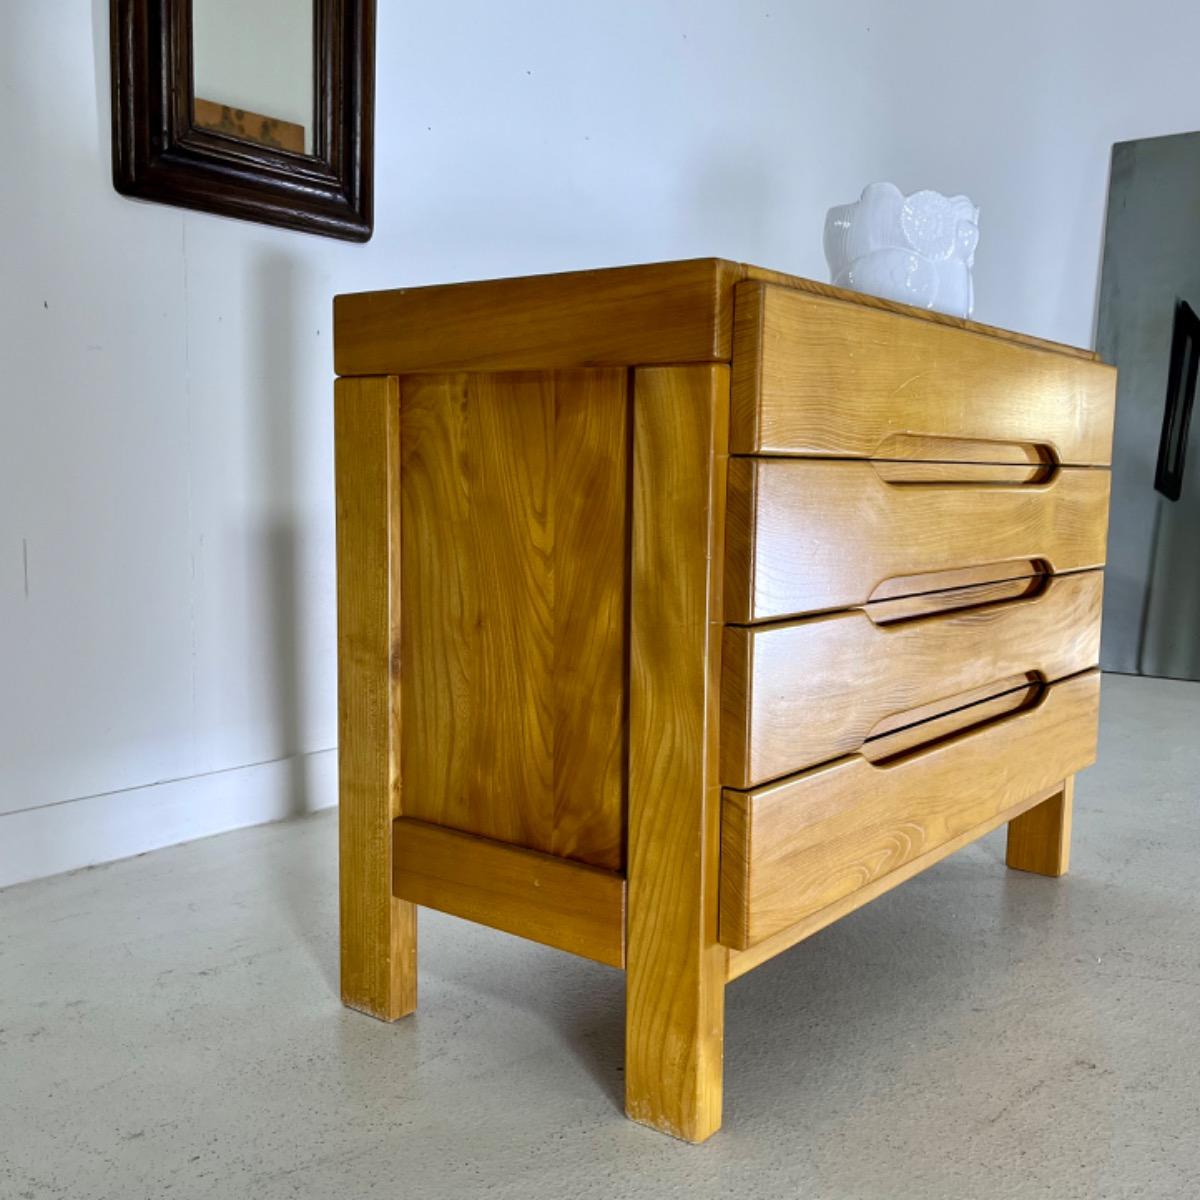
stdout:
[(624, 866), (624, 371), (401, 382), (407, 816)]

